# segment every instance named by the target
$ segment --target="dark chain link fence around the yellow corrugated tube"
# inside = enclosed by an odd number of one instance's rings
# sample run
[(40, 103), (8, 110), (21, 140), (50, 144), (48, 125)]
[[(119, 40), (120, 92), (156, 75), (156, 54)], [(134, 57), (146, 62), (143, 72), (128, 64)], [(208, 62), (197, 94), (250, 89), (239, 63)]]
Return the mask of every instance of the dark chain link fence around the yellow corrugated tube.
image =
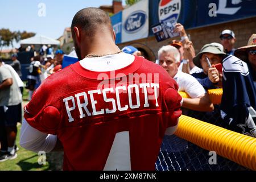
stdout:
[[(183, 110), (184, 115), (211, 123), (220, 127), (226, 127), (221, 121), (219, 105), (214, 105), (212, 112), (199, 112)], [(216, 156), (216, 164), (210, 164), (209, 151), (195, 144), (181, 139), (176, 135), (165, 136), (155, 163), (158, 171), (247, 171), (246, 167), (233, 161)]]

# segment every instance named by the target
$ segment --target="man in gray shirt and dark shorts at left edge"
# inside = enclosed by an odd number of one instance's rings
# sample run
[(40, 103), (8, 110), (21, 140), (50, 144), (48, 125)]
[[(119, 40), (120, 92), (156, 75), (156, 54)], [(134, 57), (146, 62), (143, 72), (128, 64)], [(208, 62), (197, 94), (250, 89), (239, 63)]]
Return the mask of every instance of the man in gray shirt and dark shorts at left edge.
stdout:
[(16, 124), (20, 121), (22, 94), (13, 73), (3, 67), (0, 59), (0, 162), (17, 157)]

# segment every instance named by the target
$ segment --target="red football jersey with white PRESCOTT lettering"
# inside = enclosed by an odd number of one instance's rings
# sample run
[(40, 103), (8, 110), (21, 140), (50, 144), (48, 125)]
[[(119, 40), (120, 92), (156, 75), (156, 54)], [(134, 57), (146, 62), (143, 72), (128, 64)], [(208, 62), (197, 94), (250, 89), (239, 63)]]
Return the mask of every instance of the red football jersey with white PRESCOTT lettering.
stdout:
[(26, 106), (34, 128), (56, 134), (64, 170), (154, 170), (181, 97), (159, 65), (135, 56), (112, 72), (75, 63), (47, 78)]

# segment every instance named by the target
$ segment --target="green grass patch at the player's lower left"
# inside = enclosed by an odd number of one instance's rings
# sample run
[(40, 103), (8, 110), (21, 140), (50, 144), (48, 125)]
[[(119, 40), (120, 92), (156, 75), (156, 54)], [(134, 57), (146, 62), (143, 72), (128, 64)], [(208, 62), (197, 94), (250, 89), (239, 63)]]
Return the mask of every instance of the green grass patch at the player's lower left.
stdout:
[(35, 152), (27, 151), (19, 145), (20, 127), (18, 126), (18, 135), (16, 138), (16, 144), (19, 147), (17, 152), (18, 157), (14, 160), (6, 160), (0, 163), (0, 171), (44, 171), (49, 170), (49, 163), (46, 165), (39, 165), (39, 155)]

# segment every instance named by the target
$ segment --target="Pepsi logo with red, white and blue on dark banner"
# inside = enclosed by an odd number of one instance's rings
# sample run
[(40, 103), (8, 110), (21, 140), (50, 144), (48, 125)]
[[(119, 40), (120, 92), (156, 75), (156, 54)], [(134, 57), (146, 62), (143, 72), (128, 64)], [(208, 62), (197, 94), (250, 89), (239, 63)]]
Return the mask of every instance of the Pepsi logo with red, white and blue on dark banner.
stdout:
[(172, 19), (177, 22), (181, 11), (181, 0), (160, 0), (159, 2), (159, 21), (163, 22)]

